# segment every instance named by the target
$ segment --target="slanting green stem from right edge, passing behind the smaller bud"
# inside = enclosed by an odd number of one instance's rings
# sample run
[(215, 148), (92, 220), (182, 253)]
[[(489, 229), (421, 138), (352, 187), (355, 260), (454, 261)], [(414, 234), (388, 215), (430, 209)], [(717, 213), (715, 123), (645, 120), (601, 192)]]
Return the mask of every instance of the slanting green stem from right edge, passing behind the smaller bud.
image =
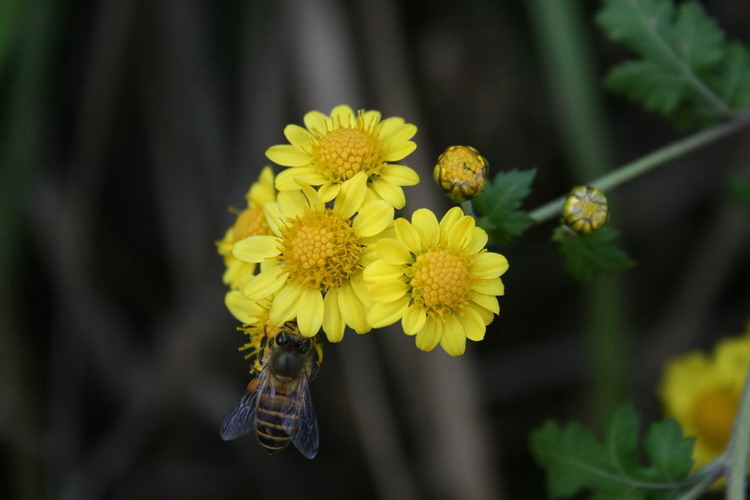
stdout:
[[(710, 144), (718, 139), (742, 130), (748, 125), (750, 125), (750, 113), (742, 115), (737, 120), (698, 132), (697, 134), (673, 142), (663, 148), (659, 148), (646, 156), (613, 170), (607, 175), (599, 177), (595, 181), (589, 183), (589, 186), (599, 188), (602, 191), (614, 188), (624, 182), (638, 177), (639, 175), (645, 174), (649, 170), (653, 170), (669, 160), (673, 160), (689, 153), (690, 151), (698, 149), (701, 146), (705, 146), (706, 144)], [(565, 197), (561, 196), (560, 198), (552, 200), (546, 205), (542, 205), (532, 211), (529, 213), (529, 216), (537, 223), (552, 219), (560, 213), (564, 201)]]

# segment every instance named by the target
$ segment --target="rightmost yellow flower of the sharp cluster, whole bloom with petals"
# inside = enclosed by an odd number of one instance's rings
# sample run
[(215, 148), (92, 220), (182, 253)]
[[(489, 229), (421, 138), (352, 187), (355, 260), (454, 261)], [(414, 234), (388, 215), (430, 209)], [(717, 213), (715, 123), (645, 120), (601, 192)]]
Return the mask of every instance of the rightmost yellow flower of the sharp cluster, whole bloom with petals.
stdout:
[(394, 229), (395, 238), (375, 243), (378, 260), (364, 272), (375, 303), (368, 322), (378, 328), (401, 320), (418, 348), (440, 344), (451, 356), (463, 354), (466, 339), (482, 340), (500, 312), (508, 261), (486, 251), (487, 233), (458, 207), (440, 222), (417, 210), (411, 223), (399, 218)]

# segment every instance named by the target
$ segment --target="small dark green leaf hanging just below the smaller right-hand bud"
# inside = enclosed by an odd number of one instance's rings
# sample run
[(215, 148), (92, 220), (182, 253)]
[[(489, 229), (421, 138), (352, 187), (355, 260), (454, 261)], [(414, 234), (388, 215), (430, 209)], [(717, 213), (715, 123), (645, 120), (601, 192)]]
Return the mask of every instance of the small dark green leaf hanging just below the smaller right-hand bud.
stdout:
[(552, 239), (560, 243), (568, 273), (578, 281), (587, 282), (597, 276), (617, 274), (635, 264), (615, 245), (618, 236), (608, 226), (588, 234), (577, 234), (560, 226)]

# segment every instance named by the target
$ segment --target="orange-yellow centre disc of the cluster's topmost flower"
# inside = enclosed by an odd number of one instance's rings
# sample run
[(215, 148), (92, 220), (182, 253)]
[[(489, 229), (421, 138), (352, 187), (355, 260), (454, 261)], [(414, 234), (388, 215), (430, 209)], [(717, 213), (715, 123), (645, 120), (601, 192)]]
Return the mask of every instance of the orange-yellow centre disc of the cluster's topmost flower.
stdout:
[[(357, 125), (361, 125), (359, 121)], [(313, 156), (318, 171), (337, 182), (344, 182), (358, 172), (370, 175), (381, 166), (380, 148), (375, 136), (362, 128), (338, 128), (318, 141)]]

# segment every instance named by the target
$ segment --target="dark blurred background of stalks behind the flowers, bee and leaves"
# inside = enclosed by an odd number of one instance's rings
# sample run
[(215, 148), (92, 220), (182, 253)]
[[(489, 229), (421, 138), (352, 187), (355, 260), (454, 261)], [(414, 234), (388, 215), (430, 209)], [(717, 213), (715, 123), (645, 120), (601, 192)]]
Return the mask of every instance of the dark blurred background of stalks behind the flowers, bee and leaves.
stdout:
[[(702, 2), (748, 39), (750, 6)], [(525, 208), (686, 132), (603, 90), (595, 1), (0, 1), (0, 498), (545, 498), (528, 434), (596, 426), (750, 313), (747, 133), (612, 193), (638, 261), (581, 286), (532, 228), (461, 358), (397, 330), (327, 345), (321, 445), (219, 426), (247, 383), (214, 242), (287, 123), (337, 104), (419, 127), (409, 215), (454, 144), (537, 168)], [(276, 169), (278, 172), (278, 168)]]

